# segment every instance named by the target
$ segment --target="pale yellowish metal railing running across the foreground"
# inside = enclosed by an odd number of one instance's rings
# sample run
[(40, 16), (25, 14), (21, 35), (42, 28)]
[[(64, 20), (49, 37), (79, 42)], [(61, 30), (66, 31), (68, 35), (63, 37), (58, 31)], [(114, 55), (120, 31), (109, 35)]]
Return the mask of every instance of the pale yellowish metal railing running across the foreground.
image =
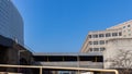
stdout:
[(25, 67), (25, 69), (38, 69), (40, 74), (43, 74), (43, 69), (48, 70), (69, 70), (69, 71), (89, 71), (89, 72), (113, 72), (114, 74), (119, 74), (117, 70), (103, 70), (103, 69), (86, 69), (86, 67), (63, 67), (63, 66), (36, 66), (36, 65), (8, 65), (8, 64), (0, 64), (0, 67)]

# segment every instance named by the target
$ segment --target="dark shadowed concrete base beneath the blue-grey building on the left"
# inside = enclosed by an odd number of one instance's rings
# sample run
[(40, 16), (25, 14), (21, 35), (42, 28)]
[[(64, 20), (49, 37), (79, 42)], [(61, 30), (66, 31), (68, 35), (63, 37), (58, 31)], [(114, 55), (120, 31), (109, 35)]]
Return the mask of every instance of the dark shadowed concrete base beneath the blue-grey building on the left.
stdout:
[[(24, 52), (21, 52), (19, 55), (20, 50), (24, 50)], [(13, 44), (13, 46), (11, 47), (0, 46), (0, 59), (1, 59), (0, 64), (16, 65), (20, 64), (21, 62), (19, 59), (23, 59), (24, 61), (26, 61), (26, 63), (25, 62), (22, 63), (24, 65), (30, 65), (33, 62), (32, 53), (18, 44)], [(18, 69), (0, 67), (0, 72), (7, 72), (7, 71), (16, 72)]]

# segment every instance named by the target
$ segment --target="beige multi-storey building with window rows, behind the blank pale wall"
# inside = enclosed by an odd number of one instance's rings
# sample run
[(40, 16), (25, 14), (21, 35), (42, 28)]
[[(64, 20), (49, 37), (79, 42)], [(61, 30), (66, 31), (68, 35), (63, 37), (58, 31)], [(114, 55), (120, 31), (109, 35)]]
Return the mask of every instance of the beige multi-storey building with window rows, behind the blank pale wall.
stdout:
[(89, 32), (80, 52), (102, 52), (109, 39), (132, 38), (132, 21), (128, 21), (106, 30)]

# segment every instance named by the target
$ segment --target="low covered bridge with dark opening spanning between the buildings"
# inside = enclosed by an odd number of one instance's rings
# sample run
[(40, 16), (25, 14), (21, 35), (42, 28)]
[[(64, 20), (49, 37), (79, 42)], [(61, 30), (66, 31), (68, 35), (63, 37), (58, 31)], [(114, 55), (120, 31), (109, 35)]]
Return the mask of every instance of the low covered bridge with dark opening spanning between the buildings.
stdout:
[[(33, 53), (35, 65), (61, 66), (61, 67), (81, 67), (81, 69), (103, 69), (102, 53), (73, 53), (73, 52), (45, 52)], [(52, 71), (57, 74), (77, 74), (77, 71)]]

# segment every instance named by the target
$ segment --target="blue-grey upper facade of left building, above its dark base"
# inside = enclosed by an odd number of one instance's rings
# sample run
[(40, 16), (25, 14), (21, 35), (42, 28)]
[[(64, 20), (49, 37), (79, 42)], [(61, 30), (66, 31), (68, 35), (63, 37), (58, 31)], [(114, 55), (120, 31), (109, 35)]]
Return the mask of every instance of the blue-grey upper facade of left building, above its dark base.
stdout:
[(0, 0), (0, 35), (24, 45), (23, 20), (11, 0)]

